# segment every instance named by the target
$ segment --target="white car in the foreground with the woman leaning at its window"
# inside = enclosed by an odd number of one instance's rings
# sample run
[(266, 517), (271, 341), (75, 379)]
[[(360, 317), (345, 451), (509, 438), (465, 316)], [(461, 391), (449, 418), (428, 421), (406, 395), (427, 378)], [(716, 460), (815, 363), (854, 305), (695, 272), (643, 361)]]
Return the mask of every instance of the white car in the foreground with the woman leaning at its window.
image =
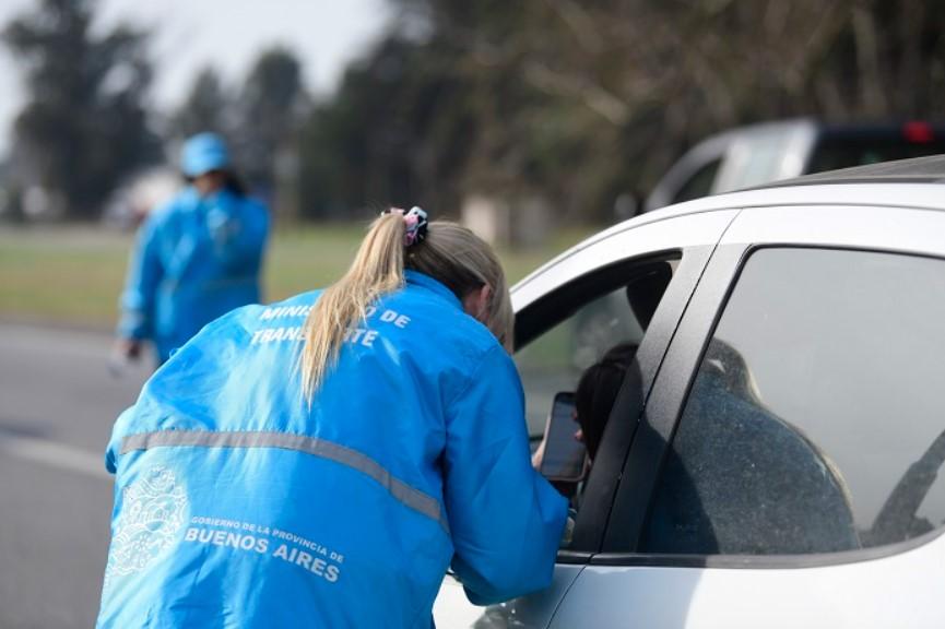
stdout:
[(552, 586), (437, 626), (945, 627), (945, 156), (628, 221), (513, 290), (551, 400), (638, 344)]

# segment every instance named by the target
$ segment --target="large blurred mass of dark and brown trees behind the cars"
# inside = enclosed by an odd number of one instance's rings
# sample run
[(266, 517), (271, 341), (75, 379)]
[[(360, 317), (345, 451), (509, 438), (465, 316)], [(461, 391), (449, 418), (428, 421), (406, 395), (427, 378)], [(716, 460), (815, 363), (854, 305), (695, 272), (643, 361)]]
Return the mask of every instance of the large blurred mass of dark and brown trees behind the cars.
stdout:
[(540, 195), (613, 218), (705, 135), (936, 118), (940, 0), (390, 0), (400, 20), (303, 134), (306, 207)]

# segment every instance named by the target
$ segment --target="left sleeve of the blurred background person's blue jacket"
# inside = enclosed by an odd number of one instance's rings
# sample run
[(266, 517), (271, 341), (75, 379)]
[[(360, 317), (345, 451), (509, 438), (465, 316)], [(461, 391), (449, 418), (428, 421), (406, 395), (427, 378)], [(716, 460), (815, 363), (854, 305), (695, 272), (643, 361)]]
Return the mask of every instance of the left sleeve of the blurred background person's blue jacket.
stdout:
[(134, 251), (121, 293), (118, 334), (130, 339), (153, 336), (154, 298), (164, 276), (158, 256), (157, 222), (154, 217), (139, 228)]

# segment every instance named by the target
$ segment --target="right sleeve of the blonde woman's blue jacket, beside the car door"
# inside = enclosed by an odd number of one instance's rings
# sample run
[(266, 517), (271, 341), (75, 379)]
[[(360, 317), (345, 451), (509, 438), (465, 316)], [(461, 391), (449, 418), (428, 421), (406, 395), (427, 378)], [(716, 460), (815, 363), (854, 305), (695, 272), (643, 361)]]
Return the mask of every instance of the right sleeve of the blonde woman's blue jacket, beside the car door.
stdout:
[(567, 501), (531, 466), (521, 383), (498, 345), (450, 406), (444, 466), (452, 568), (469, 600), (546, 588)]

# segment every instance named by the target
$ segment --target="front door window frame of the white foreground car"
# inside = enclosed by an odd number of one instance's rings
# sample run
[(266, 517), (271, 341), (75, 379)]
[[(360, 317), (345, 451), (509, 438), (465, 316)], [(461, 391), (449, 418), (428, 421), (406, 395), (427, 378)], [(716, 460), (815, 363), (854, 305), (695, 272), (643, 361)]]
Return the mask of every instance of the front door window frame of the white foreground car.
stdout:
[[(633, 269), (640, 264), (678, 259), (666, 292), (637, 351), (635, 369), (628, 372), (614, 403), (612, 420), (607, 423), (594, 463), (595, 473), (591, 474), (584, 488), (572, 544), (581, 550), (559, 550), (558, 563), (587, 563), (600, 551), (619, 471), (636, 432), (639, 410), (643, 406), (670, 341), (711, 259), (716, 244), (736, 215), (737, 211), (723, 210), (645, 222), (642, 225), (630, 225), (626, 230), (606, 233), (604, 237), (578, 247), (571, 254), (563, 256), (516, 286), (513, 300), (516, 297), (521, 299), (521, 293), (531, 293), (528, 302), (517, 308), (518, 351), (550, 331), (557, 322), (567, 319), (580, 305), (607, 292), (589, 289), (589, 283), (607, 276), (606, 283), (613, 284), (613, 276), (622, 273), (629, 283)], [(672, 246), (674, 242), (678, 246)], [(563, 281), (551, 283), (550, 280), (558, 271), (564, 276)], [(538, 293), (531, 290), (530, 282), (551, 288)], [(575, 305), (576, 298), (582, 298), (583, 301)], [(633, 382), (628, 384), (630, 380)], [(638, 410), (636, 413), (633, 411), (635, 407)], [(619, 417), (624, 417), (624, 420), (619, 420)]]

